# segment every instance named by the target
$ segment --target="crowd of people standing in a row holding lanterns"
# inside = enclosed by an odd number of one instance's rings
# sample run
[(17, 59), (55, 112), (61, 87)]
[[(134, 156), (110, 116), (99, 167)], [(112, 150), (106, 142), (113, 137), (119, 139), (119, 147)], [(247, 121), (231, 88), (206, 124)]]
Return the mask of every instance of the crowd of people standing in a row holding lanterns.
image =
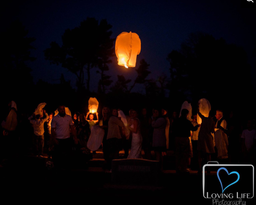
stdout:
[[(14, 101), (8, 106), (10, 112), (2, 122), (1, 164), (13, 155), (10, 144), (18, 146), (19, 141), (15, 136), (17, 106)], [(34, 130), (33, 154), (52, 158), (56, 169), (70, 169), (73, 161), (87, 166), (96, 153), (87, 146), (96, 125), (104, 130), (101, 146), (106, 172), (111, 172), (112, 160), (120, 158), (120, 150), (124, 150), (123, 157), (127, 159), (157, 160), (161, 170), (168, 151), (174, 151), (177, 173), (189, 173), (192, 166), (201, 173), (203, 162), (212, 159), (233, 164), (254, 164), (256, 160), (254, 120), (248, 119), (243, 129), (233, 112), (228, 118), (222, 110), (216, 110), (216, 115), (210, 111), (205, 117), (197, 107), (189, 120), (188, 109), (182, 109), (179, 117), (177, 112), (169, 115), (167, 108), (150, 112), (146, 108), (130, 109), (129, 115), (121, 117), (120, 109), (104, 106), (101, 119), (98, 112), (75, 112), (70, 116), (64, 105), (59, 105), (57, 111), (56, 115), (48, 114), (43, 108), (40, 114), (33, 113), (28, 118)]]

